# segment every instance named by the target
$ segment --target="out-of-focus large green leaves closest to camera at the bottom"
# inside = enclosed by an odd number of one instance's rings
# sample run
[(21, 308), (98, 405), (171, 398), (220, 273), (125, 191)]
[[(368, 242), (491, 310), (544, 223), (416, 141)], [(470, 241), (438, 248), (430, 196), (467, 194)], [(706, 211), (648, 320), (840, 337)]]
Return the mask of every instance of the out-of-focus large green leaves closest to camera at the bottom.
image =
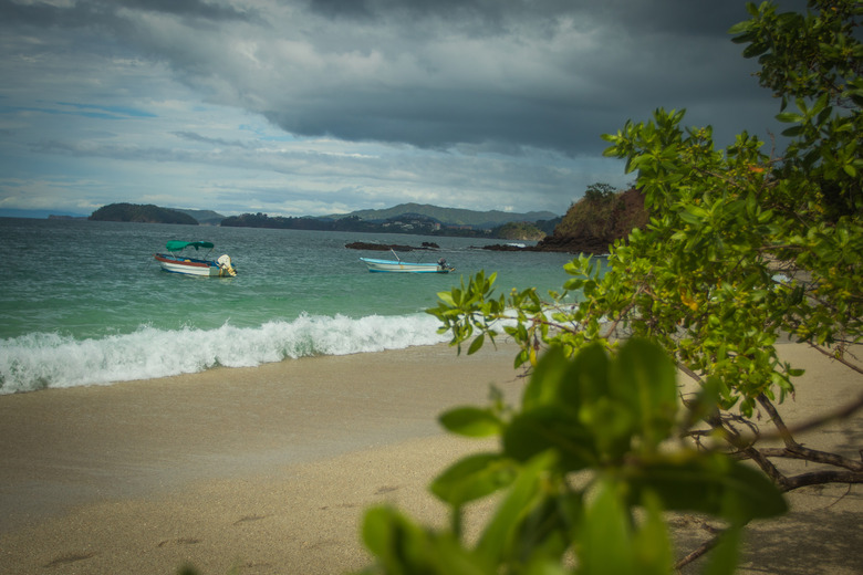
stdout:
[[(699, 402), (713, 402), (708, 395)], [(550, 349), (519, 410), (495, 402), (440, 417), (454, 433), (497, 436), (500, 449), (456, 462), (432, 484), (451, 510), (449, 529), (368, 511), (363, 539), (377, 563), (365, 573), (563, 573), (566, 562), (581, 574), (670, 573), (663, 510), (725, 520), (714, 568), (731, 573), (740, 526), (786, 504), (758, 471), (680, 442), (682, 412), (674, 365), (654, 344), (631, 339), (613, 358), (597, 344), (573, 359)], [(465, 508), (496, 492), (496, 513), (468, 543)]]

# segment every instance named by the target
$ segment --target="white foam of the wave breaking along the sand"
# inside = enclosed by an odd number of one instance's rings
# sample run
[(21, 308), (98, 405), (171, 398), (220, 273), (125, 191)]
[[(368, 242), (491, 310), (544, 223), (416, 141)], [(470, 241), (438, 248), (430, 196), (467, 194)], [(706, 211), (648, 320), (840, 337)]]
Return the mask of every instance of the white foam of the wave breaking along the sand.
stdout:
[(179, 331), (141, 327), (97, 339), (28, 334), (0, 345), (0, 394), (108, 385), (201, 372), (251, 367), (312, 355), (381, 352), (447, 341), (430, 315), (360, 318), (301, 315), (260, 327)]

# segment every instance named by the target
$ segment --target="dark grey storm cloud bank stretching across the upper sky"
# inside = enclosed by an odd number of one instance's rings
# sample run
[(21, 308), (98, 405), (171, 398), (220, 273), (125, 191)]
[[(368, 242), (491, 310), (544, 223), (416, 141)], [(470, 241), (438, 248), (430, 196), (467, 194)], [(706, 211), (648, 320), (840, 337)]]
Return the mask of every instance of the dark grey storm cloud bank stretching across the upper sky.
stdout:
[[(747, 18), (742, 2), (250, 6), (258, 8), (200, 0), (60, 8), (4, 0), (0, 18), (100, 28), (116, 50), (166, 62), (211, 101), (263, 114), (303, 136), (579, 155), (600, 148), (602, 133), (657, 106), (687, 107), (692, 122), (730, 135), (753, 119), (734, 109), (762, 115), (771, 105), (726, 33)], [(200, 20), (215, 28), (190, 23)], [(752, 129), (766, 127), (762, 122)]]

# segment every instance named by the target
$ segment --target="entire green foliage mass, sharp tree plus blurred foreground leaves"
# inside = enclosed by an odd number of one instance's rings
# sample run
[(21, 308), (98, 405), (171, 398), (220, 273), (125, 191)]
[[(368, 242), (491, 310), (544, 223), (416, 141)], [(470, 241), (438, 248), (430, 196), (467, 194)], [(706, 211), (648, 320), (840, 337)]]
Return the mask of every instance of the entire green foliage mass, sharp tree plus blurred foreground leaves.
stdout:
[[(863, 4), (811, 0), (809, 8), (777, 14), (769, 2), (749, 3), (750, 20), (731, 29), (748, 44), (745, 55), (759, 58), (761, 84), (781, 98), (778, 119), (790, 138), (781, 157), (747, 133), (716, 149), (709, 126), (684, 128), (683, 111), (657, 109), (604, 136), (606, 155), (637, 174), (651, 213), (615, 243), (607, 271), (592, 258), (573, 260), (551, 302), (534, 289), (498, 296), (495, 274), (482, 272), (439, 294), (429, 313), (459, 352), (506, 334), (521, 347), (516, 365), (533, 374), (519, 411), (445, 415), (453, 431), (497, 433), (501, 452), (465, 459), (433, 484), (453, 508), (447, 532), (371, 512), (364, 535), (378, 571), (565, 573), (569, 551), (578, 573), (668, 573), (664, 510), (722, 516), (734, 550), (736, 527), (761, 502), (774, 502), (765, 516), (781, 508), (765, 477), (779, 491), (863, 482), (863, 461), (803, 447), (777, 407), (800, 375), (779, 359), (780, 338), (861, 370), (848, 351), (863, 334), (863, 48), (854, 36)], [(575, 305), (563, 303), (569, 292), (581, 294)], [(684, 410), (668, 402), (674, 369), (658, 349), (700, 386)], [(752, 418), (760, 411), (782, 447), (759, 442)], [(694, 441), (657, 449), (678, 433)], [(780, 469), (786, 458), (820, 466), (790, 475)], [(585, 472), (588, 487), (573, 487), (571, 475)], [(710, 481), (717, 496), (696, 496), (694, 488)], [(460, 540), (462, 505), (502, 485), (497, 513), (469, 547)], [(758, 495), (729, 495), (731, 485)], [(636, 504), (643, 522), (633, 519)], [(734, 568), (728, 553), (716, 572)]]

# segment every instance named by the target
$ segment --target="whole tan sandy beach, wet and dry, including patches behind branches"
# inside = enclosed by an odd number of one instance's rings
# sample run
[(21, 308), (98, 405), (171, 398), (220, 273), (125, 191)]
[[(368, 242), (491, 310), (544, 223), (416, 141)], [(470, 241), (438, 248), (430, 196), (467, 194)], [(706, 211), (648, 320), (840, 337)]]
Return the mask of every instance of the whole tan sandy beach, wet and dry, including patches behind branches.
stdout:
[[(783, 409), (802, 421), (863, 393), (863, 377), (783, 345), (808, 369)], [(0, 397), (0, 573), (345, 573), (370, 561), (365, 509), (443, 525), (429, 481), (487, 447), (437, 416), (524, 385), (512, 346), (446, 346), (285, 360), (106, 387)], [(790, 409), (789, 409), (790, 408)], [(804, 436), (860, 457), (863, 415)], [(863, 488), (789, 495), (749, 527), (741, 573), (863, 572)], [(705, 539), (678, 525), (683, 544)]]

